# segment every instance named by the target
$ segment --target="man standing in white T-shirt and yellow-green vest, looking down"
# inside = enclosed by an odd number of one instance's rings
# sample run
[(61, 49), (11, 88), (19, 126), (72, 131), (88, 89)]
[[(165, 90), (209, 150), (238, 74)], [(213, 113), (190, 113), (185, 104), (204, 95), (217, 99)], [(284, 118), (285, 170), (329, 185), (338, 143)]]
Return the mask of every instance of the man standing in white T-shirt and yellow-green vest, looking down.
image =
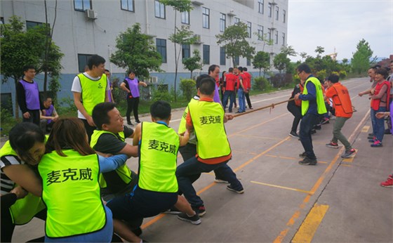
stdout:
[(95, 130), (91, 112), (95, 105), (108, 101), (107, 75), (104, 74), (105, 59), (100, 55), (92, 55), (87, 61), (88, 71), (76, 75), (71, 91), (74, 104), (78, 109), (78, 118), (84, 122), (88, 141)]

